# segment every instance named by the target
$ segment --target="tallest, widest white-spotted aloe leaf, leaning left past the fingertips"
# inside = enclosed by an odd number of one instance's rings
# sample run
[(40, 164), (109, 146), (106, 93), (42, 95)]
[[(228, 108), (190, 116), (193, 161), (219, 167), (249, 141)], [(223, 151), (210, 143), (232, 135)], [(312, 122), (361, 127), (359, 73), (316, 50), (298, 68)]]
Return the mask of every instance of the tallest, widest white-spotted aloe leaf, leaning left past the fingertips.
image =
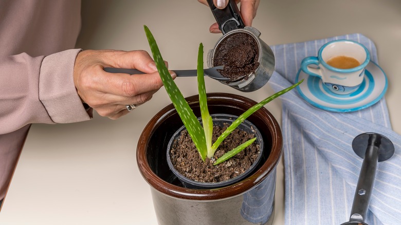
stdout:
[(173, 102), (175, 109), (181, 120), (183, 121), (185, 127), (194, 142), (200, 157), (205, 161), (207, 156), (207, 147), (205, 141), (205, 133), (203, 131), (202, 125), (200, 125), (195, 114), (193, 113), (191, 107), (189, 107), (187, 101), (185, 100), (183, 94), (178, 89), (177, 85), (174, 83), (169, 70), (167, 69), (164, 60), (161, 57), (160, 50), (157, 43), (153, 37), (152, 32), (147, 26), (143, 26), (146, 36), (148, 38), (149, 46), (152, 50), (153, 59), (155, 60), (157, 71), (160, 74), (161, 81), (166, 88), (166, 91)]

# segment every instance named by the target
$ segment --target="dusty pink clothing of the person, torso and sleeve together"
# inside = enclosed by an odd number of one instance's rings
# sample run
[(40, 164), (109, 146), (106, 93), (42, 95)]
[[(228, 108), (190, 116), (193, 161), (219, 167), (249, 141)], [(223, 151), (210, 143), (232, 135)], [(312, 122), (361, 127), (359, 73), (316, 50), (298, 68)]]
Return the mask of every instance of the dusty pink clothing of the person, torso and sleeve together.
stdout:
[(92, 116), (72, 77), (80, 15), (80, 0), (0, 0), (0, 199), (29, 124)]

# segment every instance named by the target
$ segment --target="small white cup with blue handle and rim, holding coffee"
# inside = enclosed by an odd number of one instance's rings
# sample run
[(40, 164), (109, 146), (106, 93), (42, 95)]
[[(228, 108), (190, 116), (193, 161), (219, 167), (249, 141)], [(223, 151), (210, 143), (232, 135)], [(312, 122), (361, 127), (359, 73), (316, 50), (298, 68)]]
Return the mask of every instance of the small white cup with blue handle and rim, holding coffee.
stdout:
[[(368, 49), (351, 40), (335, 40), (324, 44), (317, 57), (306, 57), (301, 69), (309, 76), (322, 79), (332, 92), (347, 95), (361, 85), (364, 69), (370, 62)], [(309, 65), (317, 65), (313, 68)]]

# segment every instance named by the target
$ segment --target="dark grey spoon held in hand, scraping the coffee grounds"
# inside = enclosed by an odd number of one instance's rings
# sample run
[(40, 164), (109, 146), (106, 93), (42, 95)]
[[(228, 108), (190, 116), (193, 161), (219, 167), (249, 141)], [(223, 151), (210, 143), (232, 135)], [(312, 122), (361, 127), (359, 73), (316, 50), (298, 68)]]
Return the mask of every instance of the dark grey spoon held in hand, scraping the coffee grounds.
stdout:
[[(214, 80), (217, 81), (229, 81), (229, 78), (223, 77), (220, 72), (217, 71), (217, 69), (223, 69), (224, 66), (216, 66), (208, 69), (204, 69), (205, 76), (213, 78)], [(144, 72), (139, 71), (137, 69), (123, 69), (123, 68), (112, 68), (112, 67), (106, 67), (104, 68), (104, 71), (106, 72), (112, 72), (112, 73), (128, 73), (128, 74), (143, 74)], [(197, 72), (196, 69), (186, 69), (186, 70), (173, 70), (175, 74), (177, 74), (177, 77), (196, 77)]]

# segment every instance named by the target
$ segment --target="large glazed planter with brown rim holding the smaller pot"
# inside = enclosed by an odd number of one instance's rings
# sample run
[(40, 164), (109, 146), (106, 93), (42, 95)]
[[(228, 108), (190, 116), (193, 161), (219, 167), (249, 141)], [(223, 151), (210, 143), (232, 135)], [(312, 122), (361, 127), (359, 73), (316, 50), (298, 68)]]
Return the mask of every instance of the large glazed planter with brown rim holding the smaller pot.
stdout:
[[(186, 98), (200, 116), (198, 96)], [(210, 114), (239, 116), (256, 104), (248, 98), (209, 93)], [(272, 224), (276, 166), (282, 155), (282, 134), (276, 119), (261, 108), (248, 120), (262, 133), (264, 155), (256, 170), (238, 183), (218, 189), (186, 189), (169, 170), (166, 148), (182, 122), (168, 105), (145, 126), (137, 145), (137, 162), (143, 178), (151, 185), (159, 224)]]

